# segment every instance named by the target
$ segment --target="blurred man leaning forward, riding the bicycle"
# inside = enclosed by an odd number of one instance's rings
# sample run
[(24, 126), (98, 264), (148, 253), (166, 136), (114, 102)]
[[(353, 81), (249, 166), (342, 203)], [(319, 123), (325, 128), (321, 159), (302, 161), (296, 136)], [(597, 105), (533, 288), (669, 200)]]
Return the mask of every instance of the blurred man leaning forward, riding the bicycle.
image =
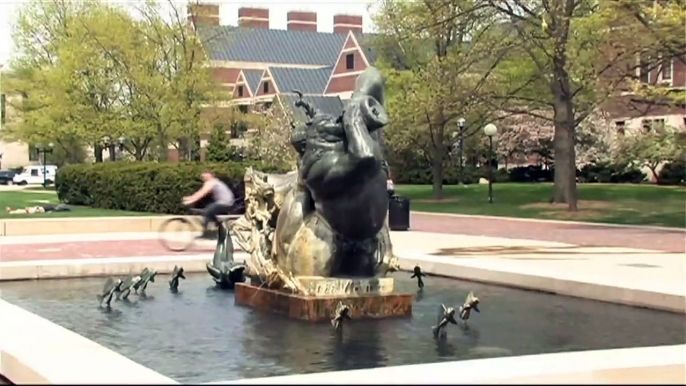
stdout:
[(212, 203), (207, 205), (202, 211), (203, 234), (201, 237), (207, 237), (207, 225), (211, 221), (217, 225), (217, 229), (221, 228), (223, 225), (217, 215), (228, 213), (236, 198), (231, 189), (211, 172), (204, 172), (201, 177), (203, 180), (202, 188), (192, 195), (184, 197), (183, 204), (187, 206), (193, 205), (212, 193)]

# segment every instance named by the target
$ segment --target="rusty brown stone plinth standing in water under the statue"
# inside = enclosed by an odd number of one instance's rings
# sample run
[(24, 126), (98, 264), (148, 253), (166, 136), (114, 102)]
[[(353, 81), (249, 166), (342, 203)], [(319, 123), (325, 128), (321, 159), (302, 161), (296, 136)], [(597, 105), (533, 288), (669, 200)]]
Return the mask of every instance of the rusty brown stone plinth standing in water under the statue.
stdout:
[(411, 294), (300, 296), (246, 283), (236, 284), (235, 297), (238, 305), (311, 322), (330, 321), (338, 302), (350, 306), (353, 319), (412, 316), (412, 298)]

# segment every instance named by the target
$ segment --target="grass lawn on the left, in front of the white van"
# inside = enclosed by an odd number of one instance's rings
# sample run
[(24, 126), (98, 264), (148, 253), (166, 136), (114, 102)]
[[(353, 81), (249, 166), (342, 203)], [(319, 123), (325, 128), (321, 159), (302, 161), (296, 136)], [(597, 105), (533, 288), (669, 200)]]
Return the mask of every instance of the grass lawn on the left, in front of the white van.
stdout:
[(113, 217), (113, 216), (148, 216), (150, 213), (124, 212), (109, 209), (93, 209), (83, 206), (70, 205), (71, 212), (34, 213), (34, 214), (8, 214), (6, 208), (25, 208), (27, 206), (39, 206), (45, 204), (59, 204), (57, 193), (30, 192), (30, 191), (0, 191), (0, 219), (10, 218), (52, 218), (52, 217)]

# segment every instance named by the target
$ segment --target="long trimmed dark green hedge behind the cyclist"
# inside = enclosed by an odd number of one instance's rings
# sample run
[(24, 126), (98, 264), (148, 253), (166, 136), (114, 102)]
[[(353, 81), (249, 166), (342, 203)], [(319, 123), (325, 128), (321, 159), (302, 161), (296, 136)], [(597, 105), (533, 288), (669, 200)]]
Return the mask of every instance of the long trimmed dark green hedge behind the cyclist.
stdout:
[[(243, 176), (249, 166), (270, 173), (287, 171), (258, 162), (105, 162), (60, 168), (55, 187), (59, 199), (70, 205), (183, 214), (188, 213), (188, 208), (181, 199), (202, 186), (202, 172), (213, 172), (236, 196), (243, 196)], [(197, 206), (204, 206), (208, 201), (209, 197)]]

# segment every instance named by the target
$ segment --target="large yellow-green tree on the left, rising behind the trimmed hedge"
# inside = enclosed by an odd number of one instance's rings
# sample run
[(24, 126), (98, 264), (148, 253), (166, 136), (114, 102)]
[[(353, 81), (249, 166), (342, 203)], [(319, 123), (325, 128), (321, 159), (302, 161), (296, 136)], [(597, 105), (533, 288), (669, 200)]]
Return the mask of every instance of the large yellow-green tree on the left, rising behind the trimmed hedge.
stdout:
[(207, 131), (202, 106), (223, 95), (199, 40), (170, 7), (165, 16), (156, 2), (137, 15), (99, 1), (24, 5), (9, 88), (25, 98), (13, 136), (58, 144), (77, 138), (95, 148), (98, 161), (105, 136), (125, 136), (135, 159), (165, 160), (170, 143)]

